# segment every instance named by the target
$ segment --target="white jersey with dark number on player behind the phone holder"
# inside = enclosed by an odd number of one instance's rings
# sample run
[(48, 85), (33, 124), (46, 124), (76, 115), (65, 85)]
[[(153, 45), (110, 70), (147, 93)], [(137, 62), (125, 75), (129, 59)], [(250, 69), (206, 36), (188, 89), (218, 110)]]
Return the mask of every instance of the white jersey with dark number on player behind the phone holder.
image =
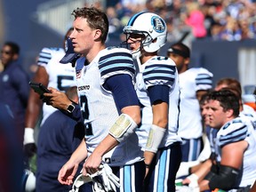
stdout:
[[(37, 61), (37, 65), (45, 68), (49, 83), (47, 87), (53, 87), (60, 91), (65, 91), (69, 86), (76, 86), (76, 70), (71, 64), (61, 64), (60, 60), (64, 57), (65, 51), (62, 48), (44, 48)], [(50, 105), (43, 105), (43, 120), (57, 110)]]

